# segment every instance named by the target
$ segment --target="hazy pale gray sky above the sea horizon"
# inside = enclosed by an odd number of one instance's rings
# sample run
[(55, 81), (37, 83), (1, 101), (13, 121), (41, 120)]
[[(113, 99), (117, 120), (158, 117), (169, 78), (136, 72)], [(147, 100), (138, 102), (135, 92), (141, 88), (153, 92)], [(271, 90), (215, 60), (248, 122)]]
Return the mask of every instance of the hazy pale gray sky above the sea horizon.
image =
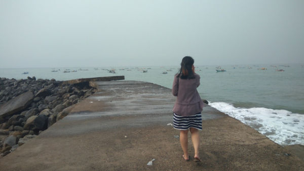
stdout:
[(304, 63), (304, 1), (0, 0), (0, 68)]

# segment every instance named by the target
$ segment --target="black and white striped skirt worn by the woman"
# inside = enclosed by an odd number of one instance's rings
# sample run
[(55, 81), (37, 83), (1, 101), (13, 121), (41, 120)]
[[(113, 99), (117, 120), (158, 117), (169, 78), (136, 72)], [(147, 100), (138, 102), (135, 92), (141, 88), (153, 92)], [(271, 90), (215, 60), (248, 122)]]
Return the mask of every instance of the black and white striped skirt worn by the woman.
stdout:
[(202, 114), (200, 112), (191, 116), (179, 116), (173, 113), (173, 127), (176, 130), (188, 130), (189, 127), (202, 130)]

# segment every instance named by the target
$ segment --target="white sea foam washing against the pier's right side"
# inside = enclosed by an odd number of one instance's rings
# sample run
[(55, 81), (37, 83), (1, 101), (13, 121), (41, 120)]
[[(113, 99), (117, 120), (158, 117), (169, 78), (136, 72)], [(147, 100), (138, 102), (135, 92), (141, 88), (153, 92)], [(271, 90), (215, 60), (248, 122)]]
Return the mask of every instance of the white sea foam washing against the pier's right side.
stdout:
[(280, 145), (304, 145), (304, 115), (287, 110), (236, 108), (224, 102), (209, 103), (217, 110), (251, 126)]

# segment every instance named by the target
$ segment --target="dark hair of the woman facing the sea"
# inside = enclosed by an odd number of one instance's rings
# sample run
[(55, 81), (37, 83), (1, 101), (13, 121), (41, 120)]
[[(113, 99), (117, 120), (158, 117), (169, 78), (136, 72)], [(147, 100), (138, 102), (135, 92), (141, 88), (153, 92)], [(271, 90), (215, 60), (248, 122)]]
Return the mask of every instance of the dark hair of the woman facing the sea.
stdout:
[(178, 77), (180, 77), (181, 79), (195, 78), (195, 75), (192, 71), (193, 64), (194, 64), (194, 59), (192, 57), (189, 56), (183, 57), (180, 63), (180, 70), (178, 73)]

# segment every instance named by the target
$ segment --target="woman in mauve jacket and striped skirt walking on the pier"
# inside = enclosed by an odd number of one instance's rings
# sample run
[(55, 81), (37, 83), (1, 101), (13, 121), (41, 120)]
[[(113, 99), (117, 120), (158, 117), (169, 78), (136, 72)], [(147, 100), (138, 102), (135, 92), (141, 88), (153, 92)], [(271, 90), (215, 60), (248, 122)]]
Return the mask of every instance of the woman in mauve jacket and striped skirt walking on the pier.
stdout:
[(200, 86), (200, 75), (195, 73), (194, 59), (186, 56), (181, 61), (181, 68), (174, 76), (172, 94), (177, 96), (173, 107), (173, 127), (180, 130), (179, 140), (183, 150), (182, 157), (188, 161), (188, 130), (194, 146), (194, 160), (201, 161), (199, 156), (200, 136), (202, 130), (203, 102), (197, 91)]

